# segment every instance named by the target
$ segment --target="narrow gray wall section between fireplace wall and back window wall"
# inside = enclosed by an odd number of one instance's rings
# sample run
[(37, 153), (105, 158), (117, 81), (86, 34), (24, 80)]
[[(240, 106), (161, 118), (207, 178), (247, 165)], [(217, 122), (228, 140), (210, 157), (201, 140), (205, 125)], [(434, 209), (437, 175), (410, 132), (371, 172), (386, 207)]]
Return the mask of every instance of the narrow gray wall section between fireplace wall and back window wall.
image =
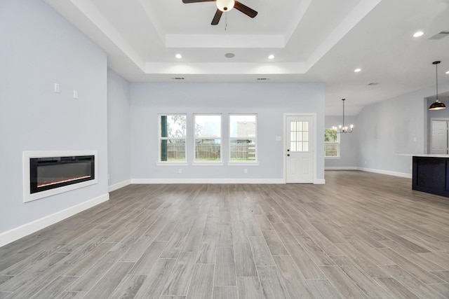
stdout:
[(107, 146), (109, 186), (129, 181), (129, 83), (111, 69), (107, 71)]

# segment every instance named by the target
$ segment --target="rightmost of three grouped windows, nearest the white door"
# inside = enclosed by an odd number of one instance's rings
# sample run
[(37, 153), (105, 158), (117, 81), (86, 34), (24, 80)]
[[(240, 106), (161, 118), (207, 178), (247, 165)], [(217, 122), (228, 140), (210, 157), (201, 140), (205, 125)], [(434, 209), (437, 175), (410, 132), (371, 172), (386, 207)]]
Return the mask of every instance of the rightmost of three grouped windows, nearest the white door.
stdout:
[(229, 116), (229, 162), (257, 161), (257, 117)]

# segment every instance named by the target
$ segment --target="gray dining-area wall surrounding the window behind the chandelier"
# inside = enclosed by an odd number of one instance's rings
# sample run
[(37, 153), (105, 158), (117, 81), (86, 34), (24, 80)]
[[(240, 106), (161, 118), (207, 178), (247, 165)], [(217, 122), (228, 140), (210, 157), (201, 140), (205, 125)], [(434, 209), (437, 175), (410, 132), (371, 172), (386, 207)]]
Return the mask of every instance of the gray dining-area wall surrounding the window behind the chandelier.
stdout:
[[(344, 125), (354, 125), (351, 134), (340, 134), (340, 158), (326, 158), (325, 167), (328, 169), (357, 167), (357, 132), (359, 131), (356, 116), (344, 116)], [(342, 116), (326, 116), (325, 127), (342, 125)]]

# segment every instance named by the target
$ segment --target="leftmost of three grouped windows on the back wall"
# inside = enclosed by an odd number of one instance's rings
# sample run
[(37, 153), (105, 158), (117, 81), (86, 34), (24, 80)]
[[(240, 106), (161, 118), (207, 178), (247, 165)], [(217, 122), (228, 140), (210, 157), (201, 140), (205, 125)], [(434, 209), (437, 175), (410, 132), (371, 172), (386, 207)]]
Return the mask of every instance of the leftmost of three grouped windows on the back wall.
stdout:
[(185, 115), (159, 116), (160, 162), (186, 162), (186, 125)]

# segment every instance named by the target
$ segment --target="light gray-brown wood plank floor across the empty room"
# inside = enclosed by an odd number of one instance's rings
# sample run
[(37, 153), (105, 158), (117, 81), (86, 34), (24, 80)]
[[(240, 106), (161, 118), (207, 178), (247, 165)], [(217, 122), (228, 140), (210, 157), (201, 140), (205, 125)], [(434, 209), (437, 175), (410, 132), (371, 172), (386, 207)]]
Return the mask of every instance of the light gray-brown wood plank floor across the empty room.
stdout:
[(0, 248), (0, 298), (449, 298), (449, 198), (326, 185), (131, 185)]

